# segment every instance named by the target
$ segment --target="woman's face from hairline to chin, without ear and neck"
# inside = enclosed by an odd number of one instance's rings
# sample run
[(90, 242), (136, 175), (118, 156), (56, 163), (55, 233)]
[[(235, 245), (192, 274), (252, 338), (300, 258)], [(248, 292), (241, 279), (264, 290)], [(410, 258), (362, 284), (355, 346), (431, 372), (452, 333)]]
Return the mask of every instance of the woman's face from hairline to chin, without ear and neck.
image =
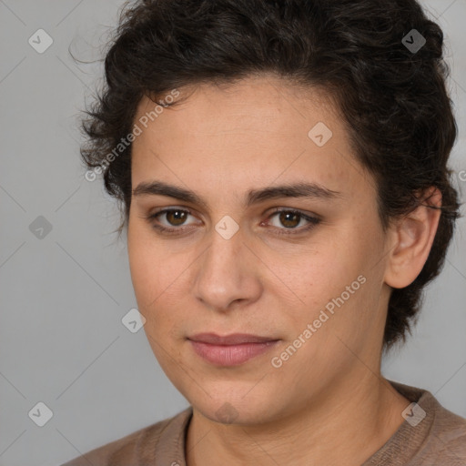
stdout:
[(389, 246), (375, 185), (325, 96), (289, 86), (198, 86), (152, 119), (156, 104), (138, 106), (138, 309), (167, 377), (211, 420), (279, 419), (379, 370)]

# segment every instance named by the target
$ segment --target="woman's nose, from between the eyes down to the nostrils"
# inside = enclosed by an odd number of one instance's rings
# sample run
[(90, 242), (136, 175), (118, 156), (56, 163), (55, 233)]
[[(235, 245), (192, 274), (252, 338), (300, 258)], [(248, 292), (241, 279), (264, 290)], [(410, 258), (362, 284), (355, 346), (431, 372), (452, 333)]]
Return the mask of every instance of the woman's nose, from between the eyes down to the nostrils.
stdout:
[(259, 266), (241, 229), (229, 239), (213, 229), (207, 250), (196, 262), (196, 299), (217, 312), (255, 302), (262, 292)]

